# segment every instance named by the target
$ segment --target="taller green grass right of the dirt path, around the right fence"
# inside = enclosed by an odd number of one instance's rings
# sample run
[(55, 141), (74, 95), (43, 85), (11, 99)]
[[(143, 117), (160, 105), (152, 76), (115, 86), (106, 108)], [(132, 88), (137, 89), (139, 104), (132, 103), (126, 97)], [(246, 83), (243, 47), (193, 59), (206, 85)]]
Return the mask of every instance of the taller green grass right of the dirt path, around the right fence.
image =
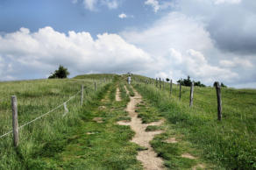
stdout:
[[(141, 76), (137, 79), (143, 81)], [(204, 159), (227, 169), (256, 168), (256, 105), (253, 104), (256, 102), (256, 90), (222, 89), (223, 120), (218, 122), (217, 96), (213, 88), (196, 87), (191, 109), (188, 107), (189, 88), (182, 87), (180, 101), (176, 85), (173, 85), (173, 96), (170, 97), (167, 83), (161, 90), (152, 84), (133, 84), (150, 103), (149, 108), (157, 109), (159, 116), (166, 118), (167, 124), (170, 124), (167, 131), (182, 135), (182, 140), (202, 151), (200, 155)], [(160, 145), (160, 140), (153, 140), (154, 149), (167, 160), (167, 165), (177, 162), (166, 157), (167, 148)]]

